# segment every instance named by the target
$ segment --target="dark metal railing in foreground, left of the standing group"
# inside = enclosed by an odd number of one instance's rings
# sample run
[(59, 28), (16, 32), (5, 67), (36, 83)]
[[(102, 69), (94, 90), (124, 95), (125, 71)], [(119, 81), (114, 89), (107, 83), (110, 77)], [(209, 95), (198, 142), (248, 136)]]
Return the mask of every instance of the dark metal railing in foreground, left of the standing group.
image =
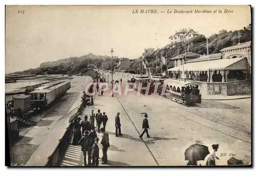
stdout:
[(59, 163), (62, 161), (62, 157), (64, 156), (69, 146), (70, 140), (73, 136), (73, 127), (74, 125), (70, 124), (63, 137), (59, 139), (59, 144), (53, 154), (48, 157), (48, 162), (46, 166), (58, 166)]

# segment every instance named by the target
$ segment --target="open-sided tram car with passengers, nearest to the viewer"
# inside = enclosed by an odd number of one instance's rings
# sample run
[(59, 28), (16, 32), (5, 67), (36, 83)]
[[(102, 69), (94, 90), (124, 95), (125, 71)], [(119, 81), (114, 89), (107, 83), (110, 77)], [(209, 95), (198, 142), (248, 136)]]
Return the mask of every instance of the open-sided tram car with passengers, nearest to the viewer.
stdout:
[(201, 103), (201, 83), (183, 80), (166, 80), (168, 87), (166, 97), (169, 100), (181, 103), (186, 106)]

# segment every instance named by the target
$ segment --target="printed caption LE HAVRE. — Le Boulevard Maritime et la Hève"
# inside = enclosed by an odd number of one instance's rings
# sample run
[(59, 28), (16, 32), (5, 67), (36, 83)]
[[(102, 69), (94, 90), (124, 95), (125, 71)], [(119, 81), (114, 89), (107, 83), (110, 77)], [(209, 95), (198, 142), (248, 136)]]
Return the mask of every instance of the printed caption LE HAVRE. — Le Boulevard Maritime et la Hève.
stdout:
[(233, 13), (232, 10), (229, 9), (216, 9), (216, 10), (166, 10), (166, 11), (158, 11), (157, 9), (134, 9), (133, 14), (158, 14), (158, 13), (167, 13), (167, 14), (186, 14), (186, 13)]

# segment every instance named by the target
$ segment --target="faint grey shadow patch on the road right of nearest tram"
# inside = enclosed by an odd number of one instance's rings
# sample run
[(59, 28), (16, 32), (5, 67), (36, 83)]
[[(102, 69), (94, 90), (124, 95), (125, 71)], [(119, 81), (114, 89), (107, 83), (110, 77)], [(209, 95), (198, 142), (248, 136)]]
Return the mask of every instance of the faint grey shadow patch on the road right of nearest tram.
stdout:
[(194, 108), (239, 109), (239, 107), (229, 105), (223, 102), (207, 100), (203, 100), (201, 104), (198, 104)]

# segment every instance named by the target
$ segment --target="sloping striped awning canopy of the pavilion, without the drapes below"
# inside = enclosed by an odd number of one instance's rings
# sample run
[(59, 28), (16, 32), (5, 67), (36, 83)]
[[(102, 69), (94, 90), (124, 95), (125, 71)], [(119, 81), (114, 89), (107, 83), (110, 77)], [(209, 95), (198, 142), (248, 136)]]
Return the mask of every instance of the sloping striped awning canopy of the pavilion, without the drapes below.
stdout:
[(207, 71), (207, 70), (248, 70), (249, 63), (244, 58), (232, 58), (232, 59), (219, 59), (212, 61), (192, 62), (186, 63), (184, 66), (180, 65), (174, 68), (168, 69), (168, 71)]

